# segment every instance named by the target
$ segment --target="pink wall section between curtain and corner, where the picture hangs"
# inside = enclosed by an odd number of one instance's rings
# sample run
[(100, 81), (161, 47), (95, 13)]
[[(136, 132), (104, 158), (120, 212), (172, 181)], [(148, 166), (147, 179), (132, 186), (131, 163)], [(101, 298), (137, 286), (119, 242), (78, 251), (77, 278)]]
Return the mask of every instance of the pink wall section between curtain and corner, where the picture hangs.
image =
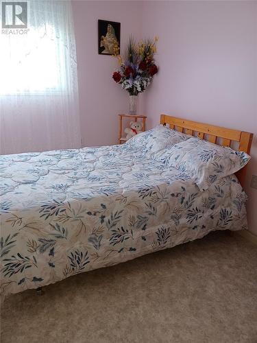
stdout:
[(140, 1), (72, 1), (79, 84), (82, 145), (118, 141), (118, 113), (127, 113), (128, 95), (112, 81), (118, 67), (112, 56), (98, 55), (98, 19), (121, 22), (121, 51), (130, 34), (140, 36)]

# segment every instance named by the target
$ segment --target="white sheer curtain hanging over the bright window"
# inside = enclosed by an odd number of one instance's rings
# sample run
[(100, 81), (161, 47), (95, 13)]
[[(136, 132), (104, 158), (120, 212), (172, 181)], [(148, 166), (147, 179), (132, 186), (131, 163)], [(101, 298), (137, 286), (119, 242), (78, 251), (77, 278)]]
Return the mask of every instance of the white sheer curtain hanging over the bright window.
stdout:
[(81, 146), (70, 1), (28, 1), (27, 34), (0, 34), (1, 154)]

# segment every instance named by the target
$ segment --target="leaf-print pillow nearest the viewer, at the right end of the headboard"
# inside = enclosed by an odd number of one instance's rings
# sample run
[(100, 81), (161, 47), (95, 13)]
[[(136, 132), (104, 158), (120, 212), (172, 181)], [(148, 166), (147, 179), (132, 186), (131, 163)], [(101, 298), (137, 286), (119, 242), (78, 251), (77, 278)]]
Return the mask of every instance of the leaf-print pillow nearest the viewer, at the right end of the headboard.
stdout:
[(192, 137), (153, 154), (151, 158), (190, 174), (200, 191), (204, 191), (219, 178), (243, 168), (251, 157), (245, 152)]

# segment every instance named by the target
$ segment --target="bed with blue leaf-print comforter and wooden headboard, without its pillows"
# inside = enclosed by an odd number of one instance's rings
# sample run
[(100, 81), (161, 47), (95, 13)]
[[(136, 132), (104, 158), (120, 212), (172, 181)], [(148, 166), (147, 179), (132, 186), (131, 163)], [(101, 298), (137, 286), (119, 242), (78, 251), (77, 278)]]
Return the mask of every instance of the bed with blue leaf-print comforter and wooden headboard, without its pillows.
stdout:
[[(160, 116), (162, 126), (249, 153), (252, 134)], [(144, 133), (143, 133), (144, 134)], [(190, 136), (191, 137), (191, 136)], [(178, 145), (175, 145), (178, 146)], [(152, 148), (152, 145), (151, 145)], [(156, 152), (162, 156), (162, 150)], [(169, 150), (166, 151), (169, 154)], [(163, 152), (164, 154), (164, 152)], [(245, 167), (199, 190), (191, 174), (132, 143), (5, 155), (1, 296), (247, 228)]]

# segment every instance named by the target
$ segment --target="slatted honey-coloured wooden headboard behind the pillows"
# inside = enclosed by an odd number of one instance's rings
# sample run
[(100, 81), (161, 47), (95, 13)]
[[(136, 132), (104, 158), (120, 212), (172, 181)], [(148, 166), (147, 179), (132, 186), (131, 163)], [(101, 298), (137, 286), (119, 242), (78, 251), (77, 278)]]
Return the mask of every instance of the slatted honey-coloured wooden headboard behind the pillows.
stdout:
[[(223, 145), (225, 147), (232, 147), (233, 143), (237, 142), (238, 150), (247, 152), (247, 154), (250, 152), (254, 136), (254, 134), (250, 132), (221, 128), (220, 126), (171, 117), (170, 115), (160, 115), (160, 123), (165, 126), (169, 124), (169, 127), (174, 130), (191, 134), (191, 136), (206, 139), (206, 141)], [(242, 186), (245, 181), (246, 167), (247, 165), (236, 173), (236, 176)]]

